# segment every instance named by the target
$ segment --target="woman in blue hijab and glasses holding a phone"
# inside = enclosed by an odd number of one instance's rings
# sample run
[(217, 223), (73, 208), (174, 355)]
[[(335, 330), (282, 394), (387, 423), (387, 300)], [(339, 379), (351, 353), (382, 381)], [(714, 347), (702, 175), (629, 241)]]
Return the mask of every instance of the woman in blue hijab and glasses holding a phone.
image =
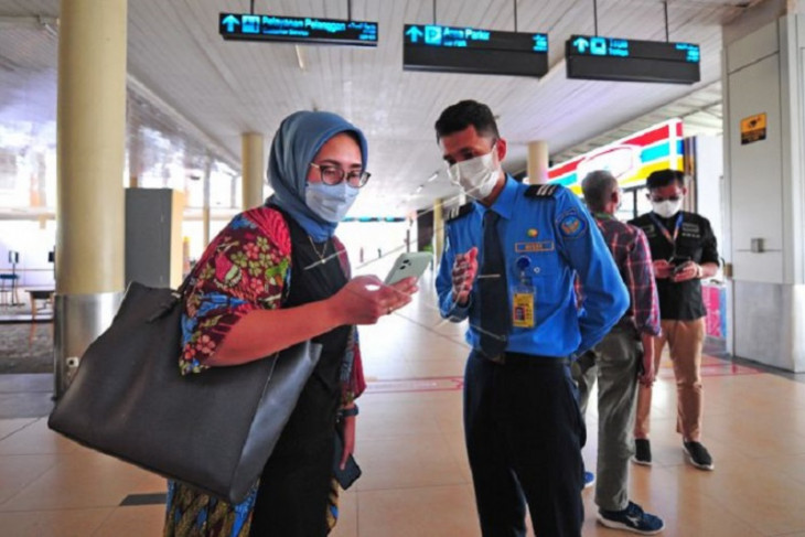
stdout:
[(185, 299), (183, 374), (260, 359), (296, 343), (321, 358), (259, 484), (230, 505), (170, 482), (165, 536), (326, 535), (335, 523), (336, 421), (342, 465), (354, 449), (354, 399), (364, 389), (356, 324), (374, 324), (410, 301), (414, 278), (383, 286), (350, 279), (335, 227), (368, 180), (366, 139), (330, 112), (299, 111), (277, 131), (265, 205), (236, 216), (193, 269)]

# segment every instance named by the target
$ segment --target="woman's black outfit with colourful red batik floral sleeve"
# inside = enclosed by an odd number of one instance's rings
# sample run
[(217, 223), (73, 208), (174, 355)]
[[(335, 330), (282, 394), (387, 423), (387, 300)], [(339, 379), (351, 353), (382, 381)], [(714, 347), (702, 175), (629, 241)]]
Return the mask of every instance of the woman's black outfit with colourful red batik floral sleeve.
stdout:
[[(193, 270), (183, 315), (182, 373), (203, 374), (206, 358), (247, 312), (325, 299), (346, 283), (347, 267), (344, 248), (337, 239), (314, 244), (292, 218), (275, 207), (262, 206), (236, 216)], [(240, 504), (230, 505), (182, 483), (170, 482), (165, 536), (248, 537), (253, 522), (260, 527), (281, 528), (286, 522), (277, 517), (282, 518), (283, 511), (310, 508), (310, 504), (318, 513), (322, 501), (326, 524), (334, 525), (337, 488), (328, 474), (322, 491), (322, 472), (326, 470), (322, 466), (323, 458), (332, 459), (337, 407), (359, 395), (365, 384), (354, 327), (339, 327), (313, 341), (324, 346), (322, 357), (269, 459), (259, 487)], [(310, 487), (315, 498), (308, 500), (304, 496), (308, 491), (302, 491), (304, 500), (272, 508), (286, 500), (285, 487), (290, 488), (298, 481), (283, 475), (286, 470), (298, 466), (300, 458), (310, 458), (311, 453), (318, 458), (313, 464), (316, 476), (308, 480), (319, 483)], [(289, 496), (293, 494), (299, 492), (288, 492)], [(271, 535), (283, 534), (272, 531)]]

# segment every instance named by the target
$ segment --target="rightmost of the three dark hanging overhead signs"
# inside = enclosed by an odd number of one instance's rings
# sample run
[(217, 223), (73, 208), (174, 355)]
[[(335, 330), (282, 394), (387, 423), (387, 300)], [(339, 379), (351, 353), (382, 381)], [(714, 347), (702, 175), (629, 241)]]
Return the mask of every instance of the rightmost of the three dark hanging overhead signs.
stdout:
[(571, 35), (565, 43), (568, 78), (593, 80), (699, 82), (699, 45)]

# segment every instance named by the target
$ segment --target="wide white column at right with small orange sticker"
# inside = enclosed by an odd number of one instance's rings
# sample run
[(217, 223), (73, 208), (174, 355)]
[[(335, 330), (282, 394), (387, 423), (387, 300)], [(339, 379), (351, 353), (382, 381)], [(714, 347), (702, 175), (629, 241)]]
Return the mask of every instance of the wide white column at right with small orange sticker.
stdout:
[(733, 354), (803, 372), (805, 15), (791, 3), (764, 2), (724, 28), (724, 254)]

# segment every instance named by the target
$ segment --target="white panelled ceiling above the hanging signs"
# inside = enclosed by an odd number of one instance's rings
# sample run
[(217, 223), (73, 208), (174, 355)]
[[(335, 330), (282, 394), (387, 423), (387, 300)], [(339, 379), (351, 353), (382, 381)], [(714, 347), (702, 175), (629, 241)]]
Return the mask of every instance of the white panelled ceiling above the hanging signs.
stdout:
[[(684, 117), (686, 133), (720, 132), (721, 26), (761, 1), (667, 2), (670, 41), (701, 46), (701, 82), (680, 86), (567, 79), (565, 41), (594, 33), (592, 0), (516, 2), (517, 30), (549, 35), (550, 71), (541, 79), (402, 71), (404, 24), (432, 23), (436, 11), (440, 24), (512, 31), (513, 0), (254, 2), (256, 13), (330, 19), (346, 19), (351, 8), (353, 19), (378, 22), (376, 49), (224, 41), (218, 13), (248, 12), (248, 0), (133, 0), (128, 117), (172, 130), (187, 154), (210, 151), (237, 169), (242, 133), (265, 133), (268, 154), (288, 114), (339, 112), (369, 140), (373, 179), (353, 214), (400, 215), (457, 193), (432, 126), (460, 99), (495, 111), (512, 172), (525, 169), (533, 140), (546, 140), (559, 162), (669, 117)], [(659, 0), (598, 0), (597, 8), (602, 35), (665, 39)], [(14, 125), (29, 138), (55, 140), (57, 18), (57, 0), (0, 0), (0, 129), (7, 129), (0, 133), (7, 140)], [(201, 165), (192, 160), (189, 167)]]

